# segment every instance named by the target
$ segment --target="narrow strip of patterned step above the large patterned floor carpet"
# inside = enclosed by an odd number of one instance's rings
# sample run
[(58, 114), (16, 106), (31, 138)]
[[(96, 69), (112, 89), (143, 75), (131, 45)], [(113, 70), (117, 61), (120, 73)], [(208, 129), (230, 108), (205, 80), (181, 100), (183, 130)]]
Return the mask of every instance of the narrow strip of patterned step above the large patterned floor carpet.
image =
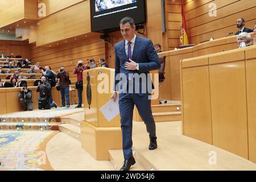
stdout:
[(48, 122), (0, 122), (0, 130), (56, 130), (60, 123)]

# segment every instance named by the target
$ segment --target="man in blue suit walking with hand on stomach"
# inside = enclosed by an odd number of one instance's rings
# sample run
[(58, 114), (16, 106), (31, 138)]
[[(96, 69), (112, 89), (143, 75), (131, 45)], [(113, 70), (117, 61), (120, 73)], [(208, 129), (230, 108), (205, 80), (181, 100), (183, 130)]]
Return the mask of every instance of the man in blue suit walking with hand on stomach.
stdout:
[(155, 121), (151, 111), (152, 82), (149, 71), (159, 69), (160, 62), (152, 41), (135, 35), (135, 24), (132, 18), (123, 18), (119, 25), (125, 40), (115, 44), (115, 88), (111, 98), (114, 101), (117, 99), (116, 91), (118, 90), (125, 158), (120, 170), (128, 171), (135, 164), (131, 139), (134, 105), (146, 124), (150, 137), (148, 149), (157, 148)]

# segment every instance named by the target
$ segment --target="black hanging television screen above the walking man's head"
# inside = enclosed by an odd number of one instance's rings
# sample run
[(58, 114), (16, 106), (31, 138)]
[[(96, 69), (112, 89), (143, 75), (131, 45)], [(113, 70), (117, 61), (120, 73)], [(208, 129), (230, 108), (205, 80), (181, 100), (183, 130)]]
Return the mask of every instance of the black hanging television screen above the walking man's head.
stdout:
[(119, 22), (130, 16), (135, 23), (146, 22), (145, 0), (91, 0), (90, 15), (93, 32), (118, 30)]

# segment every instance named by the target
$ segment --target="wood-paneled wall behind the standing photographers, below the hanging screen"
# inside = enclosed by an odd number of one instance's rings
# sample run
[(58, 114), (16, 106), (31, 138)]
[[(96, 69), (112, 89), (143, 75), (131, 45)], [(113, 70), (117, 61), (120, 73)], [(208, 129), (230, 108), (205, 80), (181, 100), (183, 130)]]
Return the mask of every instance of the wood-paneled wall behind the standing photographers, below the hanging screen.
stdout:
[(83, 60), (86, 64), (87, 59), (94, 59), (98, 61), (101, 57), (105, 58), (105, 43), (100, 40), (99, 36), (85, 38), (75, 43), (67, 43), (64, 46), (50, 47), (36, 47), (31, 45), (31, 59), (40, 65), (49, 65), (53, 71), (59, 71), (63, 65), (72, 82), (76, 82), (76, 75), (73, 69), (77, 61)]

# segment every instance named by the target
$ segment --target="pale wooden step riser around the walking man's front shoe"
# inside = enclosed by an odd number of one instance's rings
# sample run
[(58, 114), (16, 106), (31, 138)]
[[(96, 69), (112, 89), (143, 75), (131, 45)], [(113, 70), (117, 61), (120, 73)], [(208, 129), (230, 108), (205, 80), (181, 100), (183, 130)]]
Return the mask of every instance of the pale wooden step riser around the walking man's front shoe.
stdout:
[[(123, 166), (123, 151), (122, 150), (109, 150), (110, 162), (112, 162), (115, 171)], [(136, 160), (136, 163), (131, 166), (130, 171), (145, 171), (142, 165)]]

